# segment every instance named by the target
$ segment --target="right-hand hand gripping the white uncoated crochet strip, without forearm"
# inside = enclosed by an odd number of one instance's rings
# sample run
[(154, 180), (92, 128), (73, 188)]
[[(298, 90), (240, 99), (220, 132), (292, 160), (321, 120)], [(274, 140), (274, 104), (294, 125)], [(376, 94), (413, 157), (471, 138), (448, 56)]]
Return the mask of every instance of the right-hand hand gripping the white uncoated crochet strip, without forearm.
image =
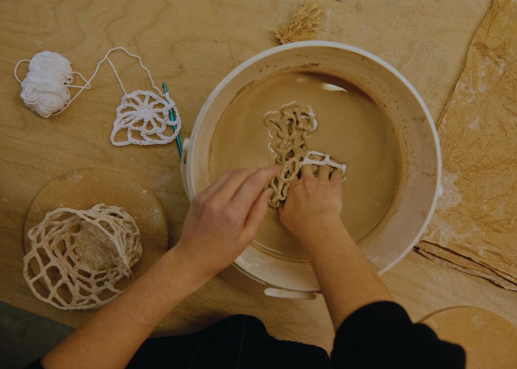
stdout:
[(310, 164), (303, 165), (301, 176), (294, 180), (283, 207), (278, 208), (280, 221), (292, 234), (304, 238), (329, 222), (341, 222), (343, 208), (341, 179), (343, 172), (322, 165), (315, 177)]

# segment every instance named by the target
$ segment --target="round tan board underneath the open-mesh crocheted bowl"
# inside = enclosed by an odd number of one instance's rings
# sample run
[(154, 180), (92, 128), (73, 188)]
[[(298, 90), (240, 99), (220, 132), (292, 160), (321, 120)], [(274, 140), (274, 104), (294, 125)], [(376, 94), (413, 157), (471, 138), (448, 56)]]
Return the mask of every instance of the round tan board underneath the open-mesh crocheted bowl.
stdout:
[(56, 208), (90, 209), (104, 203), (123, 208), (135, 220), (142, 239), (142, 258), (131, 270), (136, 279), (168, 248), (167, 222), (160, 202), (143, 184), (108, 168), (84, 168), (51, 180), (34, 199), (25, 218), (23, 243), (31, 250), (29, 229)]

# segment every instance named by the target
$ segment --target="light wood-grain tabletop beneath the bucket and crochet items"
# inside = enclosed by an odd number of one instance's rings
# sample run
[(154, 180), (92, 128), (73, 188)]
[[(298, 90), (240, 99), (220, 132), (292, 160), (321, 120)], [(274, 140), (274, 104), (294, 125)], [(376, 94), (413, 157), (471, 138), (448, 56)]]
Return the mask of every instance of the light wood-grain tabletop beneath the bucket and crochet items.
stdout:
[[(331, 1), (318, 38), (355, 45), (400, 70), (438, 119), (458, 80), (470, 40), (489, 0)], [(19, 59), (43, 50), (66, 56), (89, 76), (104, 53), (124, 46), (142, 56), (157, 83), (169, 85), (188, 137), (210, 91), (234, 67), (274, 47), (271, 29), (288, 20), (302, 0), (284, 2), (2, 1), (0, 3), (0, 300), (77, 327), (92, 312), (65, 312), (37, 300), (22, 277), (22, 230), (38, 191), (78, 168), (112, 167), (139, 179), (159, 198), (171, 242), (188, 209), (175, 145), (114, 147), (109, 142), (122, 95), (108, 65), (93, 88), (63, 114), (43, 119), (24, 107), (12, 75)], [(128, 91), (149, 88), (133, 60), (112, 58)], [(25, 73), (26, 67), (20, 72)], [(144, 251), (145, 252), (145, 251)], [(486, 308), (517, 324), (517, 294), (471, 275), (440, 267), (414, 252), (383, 280), (415, 319), (454, 305)], [(228, 268), (183, 302), (157, 334), (192, 332), (230, 314), (261, 318), (280, 339), (330, 349), (324, 300), (268, 298), (264, 286)]]

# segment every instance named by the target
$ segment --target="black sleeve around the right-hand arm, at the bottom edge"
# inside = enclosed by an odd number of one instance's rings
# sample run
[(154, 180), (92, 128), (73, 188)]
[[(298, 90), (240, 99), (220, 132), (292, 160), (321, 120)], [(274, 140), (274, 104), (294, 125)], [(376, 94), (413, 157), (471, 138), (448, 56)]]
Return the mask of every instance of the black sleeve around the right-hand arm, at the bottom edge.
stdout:
[(465, 351), (413, 324), (394, 302), (375, 302), (347, 317), (336, 333), (332, 364), (340, 368), (464, 368)]

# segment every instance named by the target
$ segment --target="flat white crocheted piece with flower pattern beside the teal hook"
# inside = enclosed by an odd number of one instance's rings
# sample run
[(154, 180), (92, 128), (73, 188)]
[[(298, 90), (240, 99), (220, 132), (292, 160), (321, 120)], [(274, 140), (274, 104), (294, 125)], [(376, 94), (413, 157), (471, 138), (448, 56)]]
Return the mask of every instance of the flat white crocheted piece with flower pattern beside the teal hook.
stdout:
[[(169, 118), (171, 109), (176, 117), (174, 122)], [(115, 146), (168, 144), (176, 139), (181, 128), (181, 118), (169, 94), (163, 98), (151, 91), (133, 91), (120, 99), (116, 112), (110, 136)], [(119, 134), (115, 141), (115, 135), (124, 130), (125, 140), (120, 141)]]

